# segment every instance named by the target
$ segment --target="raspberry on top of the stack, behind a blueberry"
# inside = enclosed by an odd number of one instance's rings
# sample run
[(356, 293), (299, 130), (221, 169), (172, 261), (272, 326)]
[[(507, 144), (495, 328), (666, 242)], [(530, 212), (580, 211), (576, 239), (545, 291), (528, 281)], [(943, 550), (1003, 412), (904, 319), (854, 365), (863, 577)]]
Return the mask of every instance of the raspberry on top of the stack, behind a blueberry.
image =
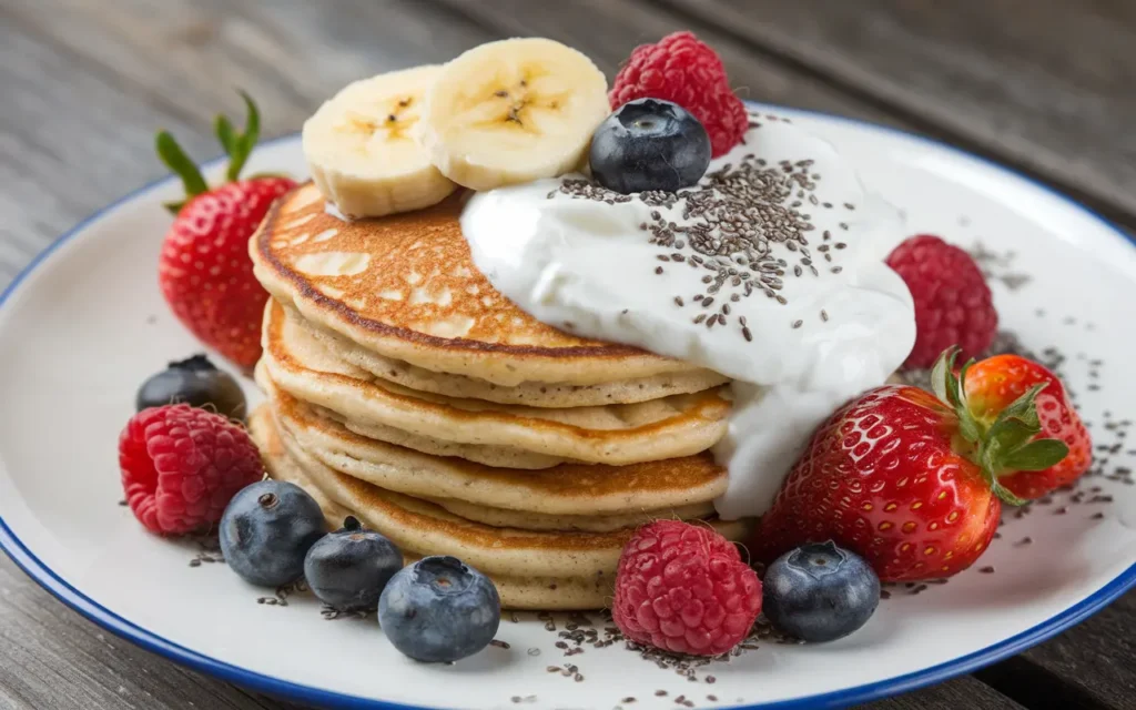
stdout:
[(619, 69), (608, 93), (612, 110), (635, 99), (674, 101), (710, 134), (715, 158), (742, 142), (750, 126), (745, 105), (730, 90), (721, 59), (691, 32), (641, 44)]

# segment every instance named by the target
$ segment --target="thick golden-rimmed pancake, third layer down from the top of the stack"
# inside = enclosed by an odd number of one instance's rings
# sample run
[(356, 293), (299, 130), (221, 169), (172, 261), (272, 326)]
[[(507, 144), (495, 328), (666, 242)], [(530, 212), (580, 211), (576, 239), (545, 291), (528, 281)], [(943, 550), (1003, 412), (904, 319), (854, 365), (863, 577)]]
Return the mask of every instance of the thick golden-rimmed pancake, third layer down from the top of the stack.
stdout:
[[(543, 409), (446, 398), (364, 374), (269, 301), (261, 360), (273, 382), (345, 421), (461, 444), (506, 446), (613, 466), (705, 451), (726, 434), (725, 389), (634, 404)], [(409, 440), (399, 444), (414, 446)]]

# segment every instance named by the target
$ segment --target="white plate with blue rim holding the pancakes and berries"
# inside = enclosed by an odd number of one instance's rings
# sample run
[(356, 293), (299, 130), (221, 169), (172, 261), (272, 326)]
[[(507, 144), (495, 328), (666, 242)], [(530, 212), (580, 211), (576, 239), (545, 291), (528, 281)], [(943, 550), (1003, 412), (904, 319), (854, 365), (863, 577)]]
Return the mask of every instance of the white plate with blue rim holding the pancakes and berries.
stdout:
[[(1136, 381), (1136, 249), (1103, 219), (954, 149), (842, 118), (777, 109), (832, 140), (914, 232), (992, 260), (1002, 321), (1036, 351), (1068, 356), (1068, 383), (1097, 443), (1119, 444), (1105, 471), (1136, 468), (1124, 441)], [(265, 144), (250, 172), (304, 174), (300, 141)], [(216, 167), (216, 166), (215, 166)], [(399, 655), (374, 618), (325, 620), (296, 594), (265, 594), (195, 549), (143, 533), (122, 498), (116, 438), (143, 377), (199, 350), (166, 309), (154, 265), (173, 181), (135, 192), (56, 242), (0, 301), (0, 545), (40, 584), (108, 629), (187, 666), (298, 701), (342, 708), (519, 705), (636, 708), (691, 703), (821, 708), (864, 702), (963, 674), (1084, 619), (1136, 583), (1136, 486), (1104, 476), (1011, 517), (978, 567), (945, 586), (893, 591), (867, 627), (828, 645), (759, 642), (730, 662), (674, 668), (615, 644), (566, 657), (566, 619), (508, 620), (490, 648), (450, 667)], [(1029, 283), (1017, 290), (1014, 275)], [(251, 392), (251, 389), (250, 389)], [(1106, 412), (1111, 409), (1111, 415)], [(1108, 417), (1112, 419), (1109, 420)], [(1106, 426), (1108, 425), (1108, 426)], [(1091, 486), (1100, 486), (1091, 492)], [(1094, 500), (1112, 496), (1111, 502)], [(1056, 511), (1067, 508), (1064, 515)], [(1094, 513), (1104, 513), (1103, 518)], [(1033, 544), (1022, 544), (1024, 538)], [(600, 615), (590, 615), (603, 638)], [(568, 646), (575, 646), (569, 642)], [(576, 670), (551, 673), (571, 665)], [(578, 677), (577, 677), (578, 675)], [(582, 678), (582, 679), (580, 679)], [(712, 679), (712, 682), (711, 682)], [(666, 691), (667, 695), (657, 692)], [(627, 703), (624, 703), (627, 704)]]

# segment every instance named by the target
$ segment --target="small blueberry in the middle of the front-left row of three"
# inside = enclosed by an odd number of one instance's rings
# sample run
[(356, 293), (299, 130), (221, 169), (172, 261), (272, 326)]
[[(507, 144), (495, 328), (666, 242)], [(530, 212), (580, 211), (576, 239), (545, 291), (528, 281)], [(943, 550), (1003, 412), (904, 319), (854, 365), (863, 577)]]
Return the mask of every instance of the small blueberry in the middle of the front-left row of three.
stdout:
[(303, 576), (319, 601), (340, 611), (369, 611), (396, 571), (402, 551), (353, 516), (311, 545)]

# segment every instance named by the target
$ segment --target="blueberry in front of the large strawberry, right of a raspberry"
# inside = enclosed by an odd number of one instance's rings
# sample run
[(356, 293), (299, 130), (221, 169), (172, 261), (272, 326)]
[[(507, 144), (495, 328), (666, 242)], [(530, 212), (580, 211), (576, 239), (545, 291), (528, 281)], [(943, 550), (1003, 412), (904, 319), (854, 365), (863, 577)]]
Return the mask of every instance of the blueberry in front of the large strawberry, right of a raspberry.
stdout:
[(879, 603), (879, 577), (833, 542), (786, 552), (766, 570), (762, 611), (774, 628), (809, 642), (835, 641), (863, 626)]

